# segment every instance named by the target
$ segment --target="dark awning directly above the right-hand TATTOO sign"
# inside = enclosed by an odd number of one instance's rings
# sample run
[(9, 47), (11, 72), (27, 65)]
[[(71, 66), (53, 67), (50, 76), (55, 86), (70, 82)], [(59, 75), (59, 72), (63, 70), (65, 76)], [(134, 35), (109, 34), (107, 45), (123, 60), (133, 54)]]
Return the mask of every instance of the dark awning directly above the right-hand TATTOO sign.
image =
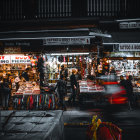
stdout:
[(140, 43), (140, 31), (111, 32), (112, 38), (103, 38), (103, 44)]

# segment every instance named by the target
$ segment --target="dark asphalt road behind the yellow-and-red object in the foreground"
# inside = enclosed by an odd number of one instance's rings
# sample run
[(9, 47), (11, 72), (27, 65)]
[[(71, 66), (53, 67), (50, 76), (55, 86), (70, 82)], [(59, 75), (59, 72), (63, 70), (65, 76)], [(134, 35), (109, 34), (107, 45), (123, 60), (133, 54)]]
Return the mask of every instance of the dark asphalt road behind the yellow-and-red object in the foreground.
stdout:
[[(118, 111), (108, 112), (101, 108), (90, 106), (80, 109), (78, 106), (70, 107), (64, 112), (65, 140), (86, 140), (88, 123), (92, 116), (97, 115), (102, 121), (112, 122), (122, 129), (122, 140), (140, 139), (140, 108), (134, 110), (118, 109)], [(67, 118), (69, 116), (69, 119)], [(80, 125), (80, 123), (85, 125)]]

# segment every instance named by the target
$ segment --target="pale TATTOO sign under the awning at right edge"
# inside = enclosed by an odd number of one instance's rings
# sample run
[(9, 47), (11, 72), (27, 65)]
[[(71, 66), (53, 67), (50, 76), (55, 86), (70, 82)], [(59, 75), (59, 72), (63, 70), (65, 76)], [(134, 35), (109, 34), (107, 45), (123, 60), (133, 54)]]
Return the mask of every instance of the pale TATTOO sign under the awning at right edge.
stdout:
[(140, 51), (140, 43), (120, 43), (119, 51)]

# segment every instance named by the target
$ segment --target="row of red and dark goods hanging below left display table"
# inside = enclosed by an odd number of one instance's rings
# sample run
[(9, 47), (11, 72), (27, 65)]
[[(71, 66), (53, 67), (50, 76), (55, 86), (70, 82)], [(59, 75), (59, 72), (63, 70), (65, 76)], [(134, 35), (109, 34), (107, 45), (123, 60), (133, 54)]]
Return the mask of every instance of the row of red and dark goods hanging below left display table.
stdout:
[(40, 95), (19, 95), (13, 97), (14, 109), (57, 109), (58, 99), (54, 94), (40, 94)]

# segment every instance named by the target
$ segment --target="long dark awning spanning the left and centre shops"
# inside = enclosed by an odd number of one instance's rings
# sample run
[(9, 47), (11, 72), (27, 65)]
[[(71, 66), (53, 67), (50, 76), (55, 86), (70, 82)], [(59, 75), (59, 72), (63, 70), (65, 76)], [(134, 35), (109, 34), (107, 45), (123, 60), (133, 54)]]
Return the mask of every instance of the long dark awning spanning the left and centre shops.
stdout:
[(0, 32), (0, 40), (32, 40), (43, 39), (46, 37), (74, 37), (89, 36), (89, 29), (70, 29), (70, 30), (37, 30), (37, 31), (11, 31)]

